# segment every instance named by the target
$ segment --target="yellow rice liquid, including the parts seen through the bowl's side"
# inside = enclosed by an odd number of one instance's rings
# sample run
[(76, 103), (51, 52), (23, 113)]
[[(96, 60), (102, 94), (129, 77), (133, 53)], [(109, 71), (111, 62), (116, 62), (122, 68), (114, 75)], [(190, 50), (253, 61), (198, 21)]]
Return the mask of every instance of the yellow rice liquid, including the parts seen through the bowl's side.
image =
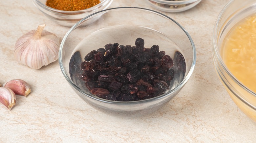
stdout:
[[(256, 93), (256, 15), (247, 17), (231, 29), (224, 40), (222, 52), (224, 63), (229, 71), (245, 87)], [(254, 95), (238, 86), (231, 78), (228, 78), (228, 81), (244, 100), (256, 106)], [(256, 110), (238, 99), (229, 88), (226, 87), (226, 89), (237, 106), (256, 121)]]

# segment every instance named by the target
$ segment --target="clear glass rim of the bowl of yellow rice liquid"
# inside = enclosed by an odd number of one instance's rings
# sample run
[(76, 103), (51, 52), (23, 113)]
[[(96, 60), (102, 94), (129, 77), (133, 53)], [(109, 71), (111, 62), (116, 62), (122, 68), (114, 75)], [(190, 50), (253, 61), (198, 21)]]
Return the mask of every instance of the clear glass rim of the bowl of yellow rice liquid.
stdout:
[[(221, 20), (222, 18), (222, 15), (224, 14), (225, 10), (232, 4), (234, 0), (230, 0), (225, 6), (224, 8), (221, 10), (221, 12), (219, 13), (216, 21), (215, 21), (215, 24), (214, 24), (214, 28), (213, 28), (213, 55), (217, 57), (217, 60), (218, 62), (220, 63), (220, 66), (224, 69), (224, 72), (240, 87), (242, 87), (243, 89), (245, 89), (246, 92), (250, 93), (251, 95), (253, 95), (254, 97), (256, 97), (256, 93), (254, 93), (251, 89), (249, 89), (248, 87), (246, 87), (244, 84), (242, 84), (229, 70), (228, 68), (226, 67), (226, 65), (224, 64), (224, 61), (220, 55), (220, 51), (219, 49), (217, 48), (218, 47), (218, 44), (217, 44), (217, 37), (219, 35), (218, 31), (217, 31), (217, 27), (219, 26), (219, 21)], [(223, 25), (221, 25), (223, 26)], [(223, 80), (223, 79), (222, 79)], [(224, 81), (224, 80), (223, 80)], [(226, 84), (226, 83), (224, 83)], [(226, 85), (226, 87), (228, 87), (230, 89), (229, 86)], [(230, 89), (231, 92), (234, 93), (233, 90)], [(237, 98), (239, 98), (243, 103), (247, 104), (248, 106), (250, 106), (251, 108), (255, 108), (255, 106), (251, 105), (250, 103), (247, 102), (247, 100), (245, 100), (244, 98), (240, 97), (239, 95), (237, 94), (234, 94)]]

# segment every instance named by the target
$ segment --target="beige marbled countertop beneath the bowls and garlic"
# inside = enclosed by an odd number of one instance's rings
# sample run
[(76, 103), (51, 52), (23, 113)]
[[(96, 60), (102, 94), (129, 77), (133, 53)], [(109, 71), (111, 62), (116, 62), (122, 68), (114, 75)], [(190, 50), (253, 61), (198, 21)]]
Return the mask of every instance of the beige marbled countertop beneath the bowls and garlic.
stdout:
[[(0, 83), (19, 78), (32, 88), (8, 111), (0, 105), (0, 142), (255, 142), (256, 122), (233, 103), (214, 70), (212, 33), (228, 0), (203, 0), (196, 7), (165, 13), (191, 35), (197, 49), (193, 75), (181, 92), (151, 115), (122, 119), (85, 103), (69, 86), (58, 61), (39, 70), (17, 63), (15, 41), (47, 24), (60, 40), (69, 30), (44, 16), (32, 1), (0, 4)], [(152, 8), (144, 0), (114, 0), (113, 7)], [(154, 9), (156, 10), (156, 9)]]

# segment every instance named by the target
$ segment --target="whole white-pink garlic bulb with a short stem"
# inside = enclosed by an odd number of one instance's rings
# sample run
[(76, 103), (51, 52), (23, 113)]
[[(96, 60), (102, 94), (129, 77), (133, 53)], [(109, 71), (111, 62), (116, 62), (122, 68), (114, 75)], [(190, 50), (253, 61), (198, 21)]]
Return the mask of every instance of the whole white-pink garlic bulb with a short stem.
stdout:
[(37, 30), (31, 30), (15, 43), (16, 61), (32, 69), (40, 69), (58, 59), (60, 42), (57, 36), (43, 30), (46, 24), (40, 24)]

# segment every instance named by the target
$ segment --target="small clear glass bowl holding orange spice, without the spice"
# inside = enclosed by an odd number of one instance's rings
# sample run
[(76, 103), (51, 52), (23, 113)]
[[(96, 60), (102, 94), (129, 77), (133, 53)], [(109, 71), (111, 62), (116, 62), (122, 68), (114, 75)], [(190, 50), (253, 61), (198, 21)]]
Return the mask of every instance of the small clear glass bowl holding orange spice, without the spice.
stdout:
[(33, 3), (36, 6), (36, 8), (38, 8), (49, 19), (53, 20), (57, 24), (68, 27), (73, 26), (82, 18), (96, 11), (107, 9), (113, 2), (113, 0), (100, 0), (99, 4), (91, 8), (77, 11), (65, 11), (46, 6), (46, 1), (47, 0), (33, 0)]

